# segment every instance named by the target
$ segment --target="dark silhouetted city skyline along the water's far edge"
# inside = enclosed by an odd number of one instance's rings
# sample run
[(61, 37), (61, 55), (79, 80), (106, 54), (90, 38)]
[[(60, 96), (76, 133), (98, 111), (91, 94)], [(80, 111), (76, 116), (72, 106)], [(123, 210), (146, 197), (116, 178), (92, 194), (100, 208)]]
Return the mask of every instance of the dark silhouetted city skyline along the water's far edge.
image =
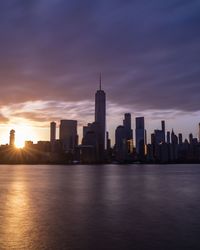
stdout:
[[(198, 136), (192, 133), (184, 138), (172, 128), (166, 130), (165, 120), (160, 129), (154, 128), (147, 140), (144, 116), (135, 117), (133, 137), (131, 114), (125, 113), (122, 124), (116, 124), (115, 140), (112, 142), (107, 130), (106, 92), (102, 88), (101, 73), (99, 88), (95, 93), (94, 116), (82, 127), (83, 136), (78, 140), (78, 121), (61, 119), (59, 136), (56, 122), (49, 123), (49, 139), (34, 143), (15, 138), (10, 130), (9, 144), (0, 145), (1, 163), (51, 163), (51, 164), (105, 164), (105, 163), (197, 163), (200, 160), (200, 123)], [(24, 129), (25, 130), (25, 129)], [(21, 131), (25, 135), (24, 131)], [(24, 145), (23, 145), (24, 143)], [(20, 148), (21, 146), (21, 148)], [(16, 149), (18, 148), (18, 149)]]

